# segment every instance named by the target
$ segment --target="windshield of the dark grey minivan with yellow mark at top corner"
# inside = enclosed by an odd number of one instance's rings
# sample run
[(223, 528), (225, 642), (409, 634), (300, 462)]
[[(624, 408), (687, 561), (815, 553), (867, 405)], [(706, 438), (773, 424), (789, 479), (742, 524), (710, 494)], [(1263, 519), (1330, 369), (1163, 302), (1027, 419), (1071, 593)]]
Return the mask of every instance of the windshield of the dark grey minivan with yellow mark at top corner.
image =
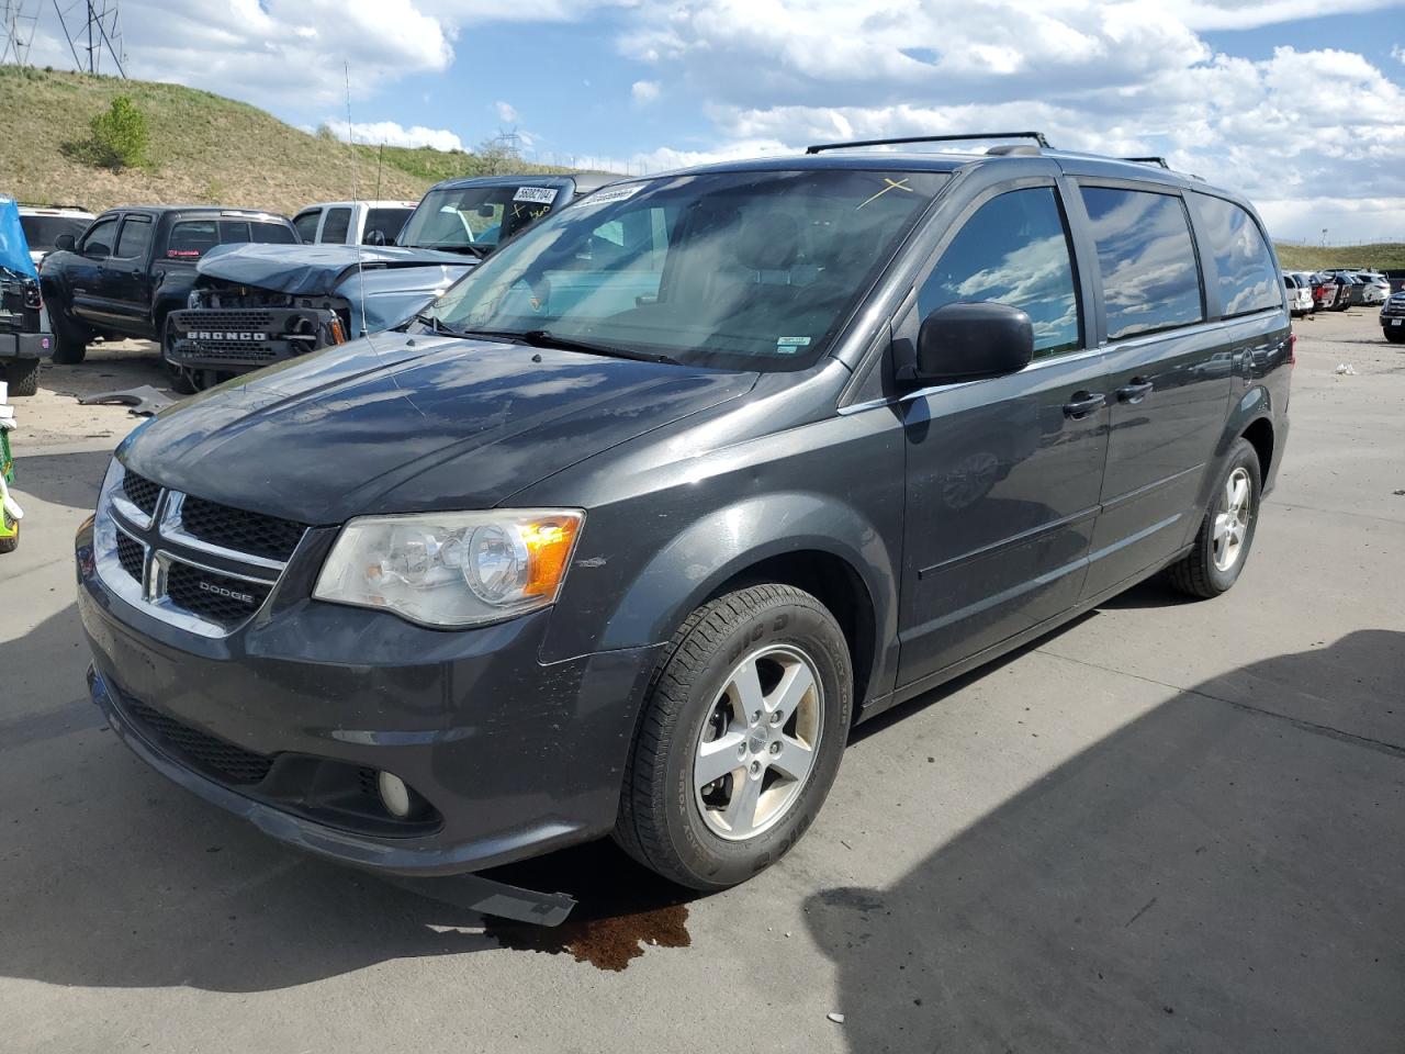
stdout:
[(504, 246), (429, 315), (447, 330), (801, 370), (947, 178), (823, 169), (613, 184)]

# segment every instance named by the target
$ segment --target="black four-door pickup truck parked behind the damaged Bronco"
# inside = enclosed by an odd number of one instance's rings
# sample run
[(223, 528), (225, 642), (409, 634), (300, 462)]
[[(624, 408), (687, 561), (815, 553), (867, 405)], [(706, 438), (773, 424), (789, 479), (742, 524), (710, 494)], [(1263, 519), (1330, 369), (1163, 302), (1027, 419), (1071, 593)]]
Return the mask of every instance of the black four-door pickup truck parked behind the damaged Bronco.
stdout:
[(94, 336), (160, 340), (205, 252), (242, 242), (295, 245), (298, 233), (268, 212), (128, 205), (100, 215), (80, 239), (60, 235), (39, 268), (53, 361), (81, 363)]

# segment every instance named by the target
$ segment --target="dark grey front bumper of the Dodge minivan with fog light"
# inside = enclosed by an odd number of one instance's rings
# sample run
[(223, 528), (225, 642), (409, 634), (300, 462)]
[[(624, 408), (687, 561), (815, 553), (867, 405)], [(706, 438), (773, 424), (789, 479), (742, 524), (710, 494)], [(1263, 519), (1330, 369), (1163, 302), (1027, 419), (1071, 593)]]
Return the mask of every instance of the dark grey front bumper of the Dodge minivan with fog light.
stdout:
[[(278, 596), (244, 628), (208, 638), (112, 593), (91, 523), (77, 571), (93, 701), (112, 728), (155, 769), (281, 842), (426, 877), (614, 825), (656, 646), (541, 663), (549, 611), (440, 632)], [(371, 793), (355, 797), (355, 774), (381, 770), (429, 808), (406, 822), (377, 816)]]

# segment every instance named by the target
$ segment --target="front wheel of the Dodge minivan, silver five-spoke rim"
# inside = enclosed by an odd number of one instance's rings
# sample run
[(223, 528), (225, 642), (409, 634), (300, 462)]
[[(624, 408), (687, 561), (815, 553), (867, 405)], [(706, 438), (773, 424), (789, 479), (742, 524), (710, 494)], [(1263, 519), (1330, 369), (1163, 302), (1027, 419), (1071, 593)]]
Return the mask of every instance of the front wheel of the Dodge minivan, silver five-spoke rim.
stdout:
[[(747, 694), (759, 701), (760, 721), (736, 705), (747, 669), (759, 673)], [(806, 683), (804, 694), (785, 691), (785, 684), (798, 690)], [(783, 700), (794, 705), (770, 720)], [(704, 604), (673, 635), (649, 686), (625, 766), (615, 842), (693, 890), (725, 890), (750, 878), (780, 860), (819, 814), (843, 759), (851, 710), (849, 645), (809, 593), (760, 585)], [(700, 788), (704, 748), (722, 739), (735, 741), (738, 767)], [(717, 770), (733, 759), (732, 742), (714, 753)], [(808, 766), (802, 776), (787, 772), (799, 765)], [(750, 819), (738, 819), (746, 808)]]

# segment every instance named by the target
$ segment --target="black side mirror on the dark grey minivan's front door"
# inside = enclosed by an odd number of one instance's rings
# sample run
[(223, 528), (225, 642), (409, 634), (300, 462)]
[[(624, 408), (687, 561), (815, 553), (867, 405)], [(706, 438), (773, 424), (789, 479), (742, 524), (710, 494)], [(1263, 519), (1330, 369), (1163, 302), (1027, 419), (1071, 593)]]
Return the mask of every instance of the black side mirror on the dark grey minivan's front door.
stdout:
[(1034, 358), (1034, 323), (1007, 304), (947, 304), (922, 320), (917, 379), (978, 381), (1019, 372)]

